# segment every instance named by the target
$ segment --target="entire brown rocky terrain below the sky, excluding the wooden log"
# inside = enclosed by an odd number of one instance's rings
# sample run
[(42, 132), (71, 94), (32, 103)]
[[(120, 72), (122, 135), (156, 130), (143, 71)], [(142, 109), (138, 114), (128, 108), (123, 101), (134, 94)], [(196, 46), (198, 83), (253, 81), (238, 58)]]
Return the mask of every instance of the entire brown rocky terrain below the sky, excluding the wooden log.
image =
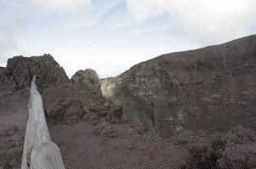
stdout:
[(94, 70), (69, 81), (48, 54), (9, 59), (0, 67), (0, 168), (20, 168), (35, 73), (66, 168), (256, 167), (252, 129), (209, 133), (255, 128), (255, 36), (162, 55), (105, 79), (115, 104), (102, 97)]

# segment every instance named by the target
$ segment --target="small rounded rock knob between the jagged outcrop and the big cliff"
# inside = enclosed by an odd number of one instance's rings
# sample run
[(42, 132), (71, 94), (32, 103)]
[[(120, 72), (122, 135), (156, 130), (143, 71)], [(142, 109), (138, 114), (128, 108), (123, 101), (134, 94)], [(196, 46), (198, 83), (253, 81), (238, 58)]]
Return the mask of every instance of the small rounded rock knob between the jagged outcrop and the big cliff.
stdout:
[(98, 96), (102, 96), (101, 81), (96, 73), (96, 70), (78, 70), (72, 76), (71, 81), (90, 88), (93, 93), (96, 93)]

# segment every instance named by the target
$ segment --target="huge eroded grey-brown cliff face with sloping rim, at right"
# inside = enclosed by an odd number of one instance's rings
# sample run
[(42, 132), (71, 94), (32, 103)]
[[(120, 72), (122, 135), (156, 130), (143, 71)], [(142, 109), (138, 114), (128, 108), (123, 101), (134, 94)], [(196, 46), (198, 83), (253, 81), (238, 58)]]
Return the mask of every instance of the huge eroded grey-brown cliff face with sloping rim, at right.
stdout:
[(256, 128), (256, 36), (164, 54), (102, 80), (124, 115), (163, 137), (184, 129)]

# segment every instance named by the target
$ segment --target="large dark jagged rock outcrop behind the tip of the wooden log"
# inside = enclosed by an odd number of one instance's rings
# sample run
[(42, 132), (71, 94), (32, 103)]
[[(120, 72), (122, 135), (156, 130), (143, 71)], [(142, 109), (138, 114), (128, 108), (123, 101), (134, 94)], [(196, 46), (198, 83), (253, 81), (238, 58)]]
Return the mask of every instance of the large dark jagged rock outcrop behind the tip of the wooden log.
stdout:
[(34, 75), (38, 76), (38, 85), (69, 82), (65, 70), (50, 54), (29, 58), (15, 56), (8, 59), (6, 68), (0, 69), (0, 81), (9, 88), (29, 87)]

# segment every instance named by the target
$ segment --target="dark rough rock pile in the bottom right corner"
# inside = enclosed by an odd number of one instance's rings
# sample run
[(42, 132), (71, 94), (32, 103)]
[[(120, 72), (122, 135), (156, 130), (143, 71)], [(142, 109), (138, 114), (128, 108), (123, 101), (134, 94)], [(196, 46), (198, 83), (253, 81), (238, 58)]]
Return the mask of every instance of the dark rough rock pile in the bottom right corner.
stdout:
[(215, 136), (209, 144), (189, 148), (190, 156), (182, 168), (255, 168), (256, 132), (238, 126)]

